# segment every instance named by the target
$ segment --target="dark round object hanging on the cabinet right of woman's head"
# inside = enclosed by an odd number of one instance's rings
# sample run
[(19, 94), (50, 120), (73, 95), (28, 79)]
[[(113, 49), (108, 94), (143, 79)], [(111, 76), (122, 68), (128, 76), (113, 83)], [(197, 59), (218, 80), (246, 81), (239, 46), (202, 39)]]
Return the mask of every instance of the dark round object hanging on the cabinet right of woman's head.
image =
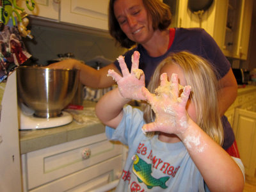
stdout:
[(205, 11), (207, 11), (213, 3), (213, 0), (188, 0), (188, 8), (189, 10), (198, 15), (200, 28), (202, 24), (202, 16)]

